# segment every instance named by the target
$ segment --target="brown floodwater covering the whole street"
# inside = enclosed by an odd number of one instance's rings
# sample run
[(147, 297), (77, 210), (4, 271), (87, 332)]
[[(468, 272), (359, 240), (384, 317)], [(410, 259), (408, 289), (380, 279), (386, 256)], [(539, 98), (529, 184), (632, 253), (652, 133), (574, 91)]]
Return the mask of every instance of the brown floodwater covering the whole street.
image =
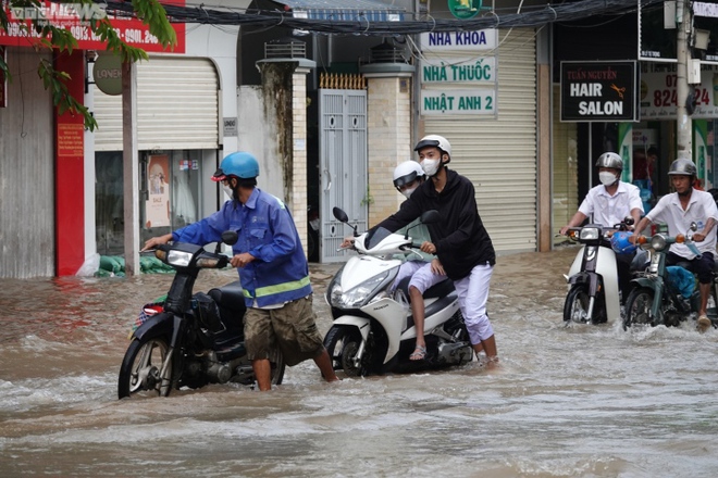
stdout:
[[(325, 383), (313, 363), (116, 400), (127, 334), (171, 275), (0, 279), (3, 476), (698, 477), (718, 470), (718, 330), (564, 327), (577, 249), (500, 256), (502, 365)], [(312, 266), (319, 326), (337, 266)], [(202, 275), (203, 274), (203, 275)], [(196, 290), (234, 280), (200, 274)]]

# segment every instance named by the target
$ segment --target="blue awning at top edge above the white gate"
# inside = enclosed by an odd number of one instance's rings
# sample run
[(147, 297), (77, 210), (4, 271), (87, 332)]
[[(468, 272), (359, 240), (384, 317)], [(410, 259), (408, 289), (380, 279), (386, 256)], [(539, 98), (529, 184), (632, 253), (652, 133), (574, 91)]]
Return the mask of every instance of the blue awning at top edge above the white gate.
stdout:
[(401, 22), (404, 9), (379, 0), (275, 0), (292, 9), (295, 18), (344, 22)]

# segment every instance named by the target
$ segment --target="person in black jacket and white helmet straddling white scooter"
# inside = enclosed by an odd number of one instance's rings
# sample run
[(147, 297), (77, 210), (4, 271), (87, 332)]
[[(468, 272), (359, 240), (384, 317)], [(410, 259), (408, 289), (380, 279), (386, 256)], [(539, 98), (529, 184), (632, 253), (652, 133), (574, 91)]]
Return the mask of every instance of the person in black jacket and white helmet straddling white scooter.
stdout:
[[(399, 211), (374, 228), (395, 231), (425, 211), (440, 212), (442, 219), (429, 225), (431, 241), (424, 241), (421, 250), (436, 254), (446, 275), (454, 280), (474, 352), (479, 354), (483, 350), (490, 363), (497, 362), (494, 329), (486, 315), (488, 284), (496, 254), (479, 216), (473, 184), (447, 167), (451, 161), (451, 144), (443, 136), (425, 136), (414, 151), (431, 180), (419, 186), (401, 203)], [(419, 288), (426, 290), (442, 279), (434, 274), (432, 265), (426, 264), (414, 273), (411, 284), (421, 285)], [(414, 352), (422, 351), (417, 349)]]

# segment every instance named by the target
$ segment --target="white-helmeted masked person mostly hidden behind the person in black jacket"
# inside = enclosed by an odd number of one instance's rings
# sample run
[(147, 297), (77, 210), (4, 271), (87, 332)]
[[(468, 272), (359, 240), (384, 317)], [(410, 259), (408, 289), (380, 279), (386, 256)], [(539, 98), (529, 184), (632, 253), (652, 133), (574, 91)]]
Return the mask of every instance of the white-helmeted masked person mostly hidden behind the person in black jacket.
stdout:
[[(424, 171), (421, 168), (421, 165), (416, 161), (406, 161), (396, 168), (394, 168), (394, 187), (404, 194), (405, 198), (409, 199), (411, 193), (426, 179)], [(429, 229), (426, 226), (421, 224), (419, 219), (412, 221), (407, 226), (397, 230), (397, 234), (406, 234), (407, 230), (410, 230), (411, 238), (416, 243), (423, 243), (430, 240)], [(444, 274), (444, 268), (438, 259), (434, 257), (433, 254), (428, 254), (421, 252), (423, 260), (411, 260), (406, 261), (399, 267), (399, 272), (396, 275), (394, 285), (392, 289), (395, 289), (396, 286), (406, 277), (412, 277), (416, 272), (431, 264), (431, 269), (434, 274), (438, 274), (443, 277), (446, 277)], [(404, 259), (406, 256), (401, 256)], [(413, 324), (417, 328), (417, 347), (413, 353), (409, 356), (411, 361), (423, 360), (426, 356), (426, 342), (424, 340), (424, 298), (423, 293), (425, 288), (422, 284), (413, 284), (412, 279), (409, 280), (409, 295), (411, 302), (411, 315), (413, 316)]]

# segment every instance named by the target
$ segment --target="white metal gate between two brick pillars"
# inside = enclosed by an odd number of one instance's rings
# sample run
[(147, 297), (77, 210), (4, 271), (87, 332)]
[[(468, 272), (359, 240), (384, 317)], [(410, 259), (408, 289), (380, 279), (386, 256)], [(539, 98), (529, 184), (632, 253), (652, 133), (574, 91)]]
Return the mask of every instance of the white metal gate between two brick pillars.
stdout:
[(352, 89), (319, 90), (320, 129), (320, 262), (342, 262), (337, 252), (349, 227), (334, 218), (332, 210), (342, 207), (350, 223), (367, 229), (367, 91)]

